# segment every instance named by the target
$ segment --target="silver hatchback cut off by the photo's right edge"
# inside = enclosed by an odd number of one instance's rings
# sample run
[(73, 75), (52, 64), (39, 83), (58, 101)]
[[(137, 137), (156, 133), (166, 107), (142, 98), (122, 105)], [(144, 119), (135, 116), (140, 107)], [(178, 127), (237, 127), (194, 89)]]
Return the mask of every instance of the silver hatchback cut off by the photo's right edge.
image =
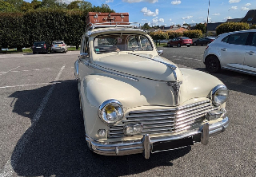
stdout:
[(256, 75), (256, 30), (222, 33), (206, 47), (203, 62), (210, 73), (230, 69)]

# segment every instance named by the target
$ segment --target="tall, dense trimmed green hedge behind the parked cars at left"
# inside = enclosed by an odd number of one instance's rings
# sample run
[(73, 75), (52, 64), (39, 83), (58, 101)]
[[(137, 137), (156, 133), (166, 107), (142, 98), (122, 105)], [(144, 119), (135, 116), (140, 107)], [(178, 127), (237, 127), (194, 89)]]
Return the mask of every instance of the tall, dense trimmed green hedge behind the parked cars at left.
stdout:
[[(98, 10), (94, 7), (95, 10)], [(90, 11), (95, 11), (90, 9)], [(104, 10), (113, 12), (114, 10)], [(86, 31), (87, 11), (42, 9), (23, 13), (0, 13), (1, 48), (30, 47), (34, 41), (65, 41), (78, 49)]]

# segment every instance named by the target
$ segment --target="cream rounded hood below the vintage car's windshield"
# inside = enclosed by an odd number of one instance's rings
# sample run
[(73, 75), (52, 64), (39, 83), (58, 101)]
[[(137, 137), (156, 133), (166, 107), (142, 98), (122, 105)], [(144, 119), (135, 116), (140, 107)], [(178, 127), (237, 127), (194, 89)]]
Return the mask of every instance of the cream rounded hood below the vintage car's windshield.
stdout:
[[(177, 68), (172, 69), (165, 63)], [(164, 57), (145, 53), (115, 53), (99, 58), (98, 61), (94, 61), (94, 64), (112, 71), (156, 81), (182, 80), (182, 73), (173, 62)]]

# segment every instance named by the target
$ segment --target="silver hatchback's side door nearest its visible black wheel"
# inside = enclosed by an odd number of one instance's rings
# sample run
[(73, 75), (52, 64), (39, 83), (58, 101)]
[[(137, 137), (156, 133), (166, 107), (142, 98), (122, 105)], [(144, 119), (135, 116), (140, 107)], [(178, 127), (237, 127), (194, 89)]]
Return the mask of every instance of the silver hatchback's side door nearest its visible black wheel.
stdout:
[(233, 33), (222, 39), (218, 51), (223, 68), (243, 69), (248, 35), (249, 33)]

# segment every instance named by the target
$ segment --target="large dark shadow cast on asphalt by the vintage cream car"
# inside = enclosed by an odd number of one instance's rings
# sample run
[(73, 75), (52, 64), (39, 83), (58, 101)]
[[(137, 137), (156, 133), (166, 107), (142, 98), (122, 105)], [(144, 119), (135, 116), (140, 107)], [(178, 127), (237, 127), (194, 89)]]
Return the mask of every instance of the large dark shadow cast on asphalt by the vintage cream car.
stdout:
[[(50, 94), (49, 100), (46, 94)], [(150, 155), (150, 159), (144, 159), (141, 154), (94, 154), (86, 145), (75, 81), (16, 91), (9, 97), (16, 100), (11, 105), (13, 112), (31, 120), (30, 128), (18, 140), (11, 155), (11, 165), (21, 176), (134, 175), (154, 167), (171, 167), (172, 160), (191, 150), (187, 147), (159, 152)]]

